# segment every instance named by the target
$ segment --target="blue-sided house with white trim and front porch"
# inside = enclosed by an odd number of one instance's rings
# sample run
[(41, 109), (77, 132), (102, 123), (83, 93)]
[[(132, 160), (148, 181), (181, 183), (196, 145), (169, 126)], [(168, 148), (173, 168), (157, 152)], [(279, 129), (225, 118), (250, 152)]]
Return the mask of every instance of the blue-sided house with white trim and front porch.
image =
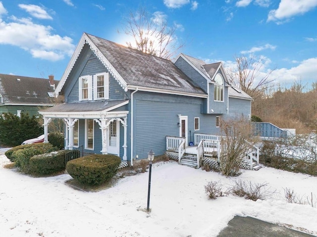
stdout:
[(65, 149), (115, 154), (124, 165), (151, 149), (164, 155), (167, 137), (186, 147), (195, 134), (219, 134), (219, 118), (251, 117), (252, 98), (229, 84), (221, 63), (184, 54), (171, 62), (87, 33), (55, 93), (65, 103), (40, 112), (46, 141), (48, 124), (62, 118)]

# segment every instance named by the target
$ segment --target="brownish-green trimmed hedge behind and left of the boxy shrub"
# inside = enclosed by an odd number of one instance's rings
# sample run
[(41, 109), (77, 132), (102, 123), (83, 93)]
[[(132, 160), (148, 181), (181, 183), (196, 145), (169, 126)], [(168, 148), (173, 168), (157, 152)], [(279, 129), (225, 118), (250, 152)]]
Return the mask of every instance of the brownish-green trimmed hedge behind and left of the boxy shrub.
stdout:
[(29, 172), (29, 163), (31, 157), (56, 150), (56, 148), (54, 148), (50, 143), (38, 143), (37, 146), (34, 146), (35, 144), (30, 145), (33, 146), (16, 150), (11, 155), (11, 159), (15, 161), (15, 165), (23, 172)]

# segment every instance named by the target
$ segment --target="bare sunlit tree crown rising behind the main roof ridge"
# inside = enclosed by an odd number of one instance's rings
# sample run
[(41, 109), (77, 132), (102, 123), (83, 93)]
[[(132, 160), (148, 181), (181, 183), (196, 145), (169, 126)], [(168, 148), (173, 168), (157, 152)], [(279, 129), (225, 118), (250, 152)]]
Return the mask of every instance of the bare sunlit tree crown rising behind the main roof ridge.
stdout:
[(140, 7), (136, 13), (130, 11), (123, 21), (123, 33), (133, 38), (126, 42), (131, 48), (170, 59), (184, 46), (175, 36), (177, 27), (169, 27), (164, 16), (159, 13), (152, 16), (145, 7)]

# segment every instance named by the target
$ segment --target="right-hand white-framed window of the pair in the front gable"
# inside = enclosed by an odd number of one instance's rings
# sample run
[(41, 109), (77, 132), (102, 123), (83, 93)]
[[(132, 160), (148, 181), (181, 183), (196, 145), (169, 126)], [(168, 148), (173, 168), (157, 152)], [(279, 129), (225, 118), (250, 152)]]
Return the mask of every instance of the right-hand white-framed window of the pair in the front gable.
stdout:
[(94, 75), (94, 100), (107, 99), (109, 99), (109, 74), (96, 74)]

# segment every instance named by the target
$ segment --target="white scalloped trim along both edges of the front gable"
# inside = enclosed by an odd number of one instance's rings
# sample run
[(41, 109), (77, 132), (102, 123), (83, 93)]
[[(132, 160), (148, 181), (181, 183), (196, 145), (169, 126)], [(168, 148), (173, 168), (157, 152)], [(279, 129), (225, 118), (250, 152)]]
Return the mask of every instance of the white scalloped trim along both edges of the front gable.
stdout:
[(56, 97), (63, 88), (66, 79), (68, 78), (71, 70), (73, 69), (83, 47), (85, 44), (88, 44), (90, 49), (93, 51), (93, 53), (96, 55), (96, 57), (100, 60), (100, 62), (105, 66), (105, 68), (108, 70), (108, 72), (111, 74), (111, 76), (119, 83), (119, 85), (124, 89), (124, 91), (128, 91), (127, 83), (126, 81), (120, 76), (120, 74), (115, 70), (115, 68), (110, 64), (110, 62), (106, 59), (105, 55), (99, 50), (99, 48), (89, 39), (89, 37), (86, 35), (86, 33), (83, 33), (83, 36), (79, 40), (79, 43), (77, 44), (77, 47), (66, 67), (66, 70), (64, 71), (64, 74), (62, 78), (60, 79), (58, 85), (56, 86), (55, 93)]

